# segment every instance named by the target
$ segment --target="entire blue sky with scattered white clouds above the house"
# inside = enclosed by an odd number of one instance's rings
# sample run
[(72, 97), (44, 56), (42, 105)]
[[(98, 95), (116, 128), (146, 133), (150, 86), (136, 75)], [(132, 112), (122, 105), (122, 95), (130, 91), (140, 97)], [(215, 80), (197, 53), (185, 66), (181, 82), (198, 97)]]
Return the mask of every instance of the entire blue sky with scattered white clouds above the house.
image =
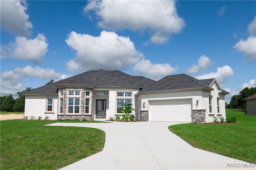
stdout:
[(256, 1), (0, 1), (1, 91), (89, 70), (256, 87)]

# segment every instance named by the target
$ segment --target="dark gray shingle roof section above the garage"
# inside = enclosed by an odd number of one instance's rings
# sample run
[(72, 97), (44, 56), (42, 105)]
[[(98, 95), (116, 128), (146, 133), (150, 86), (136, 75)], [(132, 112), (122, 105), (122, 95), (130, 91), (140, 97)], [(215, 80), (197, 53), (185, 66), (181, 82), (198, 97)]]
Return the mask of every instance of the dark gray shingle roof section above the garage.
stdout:
[(168, 75), (140, 92), (165, 91), (174, 89), (209, 88), (214, 79), (198, 80), (186, 74)]

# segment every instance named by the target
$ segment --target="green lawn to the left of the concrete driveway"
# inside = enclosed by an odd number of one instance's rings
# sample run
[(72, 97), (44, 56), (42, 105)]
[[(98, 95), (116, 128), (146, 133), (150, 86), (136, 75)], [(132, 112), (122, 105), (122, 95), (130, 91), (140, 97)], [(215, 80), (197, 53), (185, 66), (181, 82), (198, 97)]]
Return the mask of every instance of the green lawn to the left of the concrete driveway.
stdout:
[[(102, 130), (44, 126), (56, 122), (59, 121), (1, 121), (1, 170), (59, 169), (103, 149)], [(87, 122), (90, 121), (84, 123)]]

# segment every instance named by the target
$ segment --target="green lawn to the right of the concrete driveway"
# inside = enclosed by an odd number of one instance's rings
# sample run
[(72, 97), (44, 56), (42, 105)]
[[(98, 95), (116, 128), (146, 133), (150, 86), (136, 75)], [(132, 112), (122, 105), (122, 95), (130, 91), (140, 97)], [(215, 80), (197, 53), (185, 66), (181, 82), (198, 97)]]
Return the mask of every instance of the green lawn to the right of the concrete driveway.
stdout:
[(169, 130), (195, 148), (256, 163), (256, 116), (226, 110), (226, 117), (236, 117), (237, 123), (180, 124)]

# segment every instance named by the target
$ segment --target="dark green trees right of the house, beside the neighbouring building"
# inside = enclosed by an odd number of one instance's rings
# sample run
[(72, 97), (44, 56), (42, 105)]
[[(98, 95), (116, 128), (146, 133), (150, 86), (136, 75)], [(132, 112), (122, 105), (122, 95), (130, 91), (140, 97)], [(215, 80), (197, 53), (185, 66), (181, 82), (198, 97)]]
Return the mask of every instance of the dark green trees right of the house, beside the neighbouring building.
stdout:
[(231, 97), (230, 103), (226, 103), (226, 109), (246, 109), (246, 101), (243, 99), (254, 94), (256, 94), (256, 87), (250, 89), (248, 87), (244, 88), (239, 92), (239, 95)]

